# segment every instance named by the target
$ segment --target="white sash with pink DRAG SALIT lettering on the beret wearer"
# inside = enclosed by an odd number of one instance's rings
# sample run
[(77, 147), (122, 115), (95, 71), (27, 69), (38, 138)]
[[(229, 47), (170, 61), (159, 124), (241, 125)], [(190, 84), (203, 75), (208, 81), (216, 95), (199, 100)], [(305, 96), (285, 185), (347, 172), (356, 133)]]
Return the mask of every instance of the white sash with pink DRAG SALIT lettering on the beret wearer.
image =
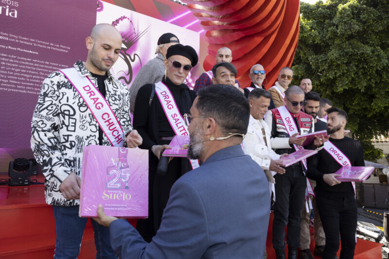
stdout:
[[(162, 105), (166, 118), (172, 126), (176, 135), (189, 136), (188, 127), (185, 125), (184, 118), (179, 113), (176, 101), (173, 98), (173, 94), (169, 88), (162, 82), (155, 84), (155, 92), (158, 96), (159, 102)], [(192, 168), (199, 167), (198, 160), (189, 159)]]

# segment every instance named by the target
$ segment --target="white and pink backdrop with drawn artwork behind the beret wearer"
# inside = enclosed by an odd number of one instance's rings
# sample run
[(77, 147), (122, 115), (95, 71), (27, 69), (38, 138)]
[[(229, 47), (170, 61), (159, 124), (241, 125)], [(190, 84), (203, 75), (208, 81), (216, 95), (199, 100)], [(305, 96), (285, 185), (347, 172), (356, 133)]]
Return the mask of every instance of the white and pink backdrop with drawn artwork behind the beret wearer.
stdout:
[[(111, 70), (116, 78), (129, 86), (141, 66), (156, 57), (157, 41), (164, 33), (177, 35), (181, 44), (190, 45), (199, 53), (200, 35), (198, 33), (110, 3), (100, 2), (96, 23), (112, 24), (121, 33), (124, 39), (123, 47), (126, 49), (125, 55), (121, 54)], [(195, 85), (199, 67), (197, 64), (191, 70), (185, 84), (190, 87)]]

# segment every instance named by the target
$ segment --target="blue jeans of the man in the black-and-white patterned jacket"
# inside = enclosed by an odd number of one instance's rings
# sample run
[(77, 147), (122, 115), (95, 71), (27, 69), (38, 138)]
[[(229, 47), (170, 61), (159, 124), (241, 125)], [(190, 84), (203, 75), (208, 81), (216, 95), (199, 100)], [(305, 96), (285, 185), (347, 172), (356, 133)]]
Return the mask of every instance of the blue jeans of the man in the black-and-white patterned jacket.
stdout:
[[(78, 217), (79, 206), (53, 206), (55, 231), (55, 259), (76, 259), (80, 253), (82, 236), (88, 218)], [(94, 230), (96, 259), (118, 259), (109, 241), (109, 228), (90, 219)]]

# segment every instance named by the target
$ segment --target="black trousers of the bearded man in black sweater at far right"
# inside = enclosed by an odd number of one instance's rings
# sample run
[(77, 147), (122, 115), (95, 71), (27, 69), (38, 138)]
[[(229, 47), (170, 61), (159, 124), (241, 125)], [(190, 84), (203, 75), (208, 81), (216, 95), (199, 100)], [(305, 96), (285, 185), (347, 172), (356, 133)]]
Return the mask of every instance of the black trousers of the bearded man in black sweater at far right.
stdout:
[(325, 247), (323, 259), (334, 259), (339, 250), (339, 233), (342, 249), (340, 259), (354, 258), (355, 233), (358, 220), (354, 195), (344, 198), (316, 195), (316, 203), (323, 224)]

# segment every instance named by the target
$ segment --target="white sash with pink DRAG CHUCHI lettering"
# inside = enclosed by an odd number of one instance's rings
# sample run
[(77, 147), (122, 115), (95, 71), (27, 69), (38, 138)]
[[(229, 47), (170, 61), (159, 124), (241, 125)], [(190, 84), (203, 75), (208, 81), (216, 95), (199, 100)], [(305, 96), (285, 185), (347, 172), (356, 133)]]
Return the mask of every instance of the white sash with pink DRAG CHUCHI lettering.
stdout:
[(118, 119), (106, 99), (90, 81), (88, 76), (81, 76), (75, 68), (59, 70), (80, 94), (87, 104), (94, 119), (114, 147), (123, 147), (124, 132)]

